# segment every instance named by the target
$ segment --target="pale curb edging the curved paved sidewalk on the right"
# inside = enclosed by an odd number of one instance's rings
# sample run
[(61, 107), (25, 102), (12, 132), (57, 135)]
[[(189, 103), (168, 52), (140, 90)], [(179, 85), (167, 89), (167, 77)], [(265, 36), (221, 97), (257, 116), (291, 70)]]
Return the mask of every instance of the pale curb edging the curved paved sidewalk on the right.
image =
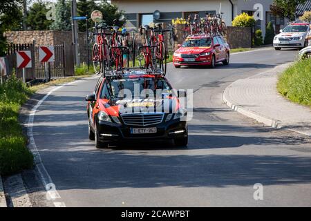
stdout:
[[(289, 62), (288, 64), (291, 64), (292, 62)], [(282, 64), (280, 66), (284, 66), (286, 64)], [(272, 68), (271, 70), (273, 69), (276, 69), (278, 68), (279, 66), (276, 66), (275, 68)], [(268, 73), (270, 72), (271, 70), (267, 70), (263, 73), (259, 73), (257, 75), (263, 75), (264, 73)], [(256, 75), (254, 75), (256, 76)], [(252, 77), (254, 77), (252, 76)], [(230, 99), (229, 99), (229, 88), (232, 87), (232, 85), (235, 83), (236, 81), (232, 82), (232, 84), (230, 84), (229, 86), (227, 86), (227, 88), (225, 88), (224, 92), (223, 92), (223, 102), (225, 102), (225, 104), (227, 106), (229, 106), (229, 108), (232, 108), (232, 110), (234, 111), (237, 111), (238, 113), (241, 113), (242, 115), (245, 115), (246, 117), (249, 117), (249, 118), (252, 118), (252, 119), (255, 119), (257, 122), (259, 123), (263, 123), (265, 124), (265, 126), (270, 126), (272, 128), (277, 128), (277, 129), (285, 129), (285, 130), (289, 130), (289, 131), (294, 131), (296, 133), (300, 133), (302, 135), (308, 135), (307, 133), (303, 133), (301, 131), (296, 131), (296, 130), (293, 130), (291, 128), (288, 128), (287, 126), (283, 126), (284, 124), (281, 122), (281, 120), (279, 119), (273, 119), (271, 117), (267, 117), (265, 115), (262, 115), (261, 113), (257, 113), (255, 111), (251, 111), (245, 107), (243, 107), (242, 105), (240, 104), (234, 104)], [(308, 135), (310, 136), (310, 135)]]

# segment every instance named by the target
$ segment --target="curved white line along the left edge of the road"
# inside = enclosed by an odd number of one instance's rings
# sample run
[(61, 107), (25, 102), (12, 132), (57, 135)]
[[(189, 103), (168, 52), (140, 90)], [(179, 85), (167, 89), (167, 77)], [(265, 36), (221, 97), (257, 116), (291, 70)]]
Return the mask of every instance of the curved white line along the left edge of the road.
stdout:
[[(80, 81), (80, 80), (78, 80)], [(77, 83), (77, 81), (72, 81), (69, 82), (67, 84), (64, 84), (62, 86), (57, 86), (56, 88), (53, 88), (52, 90), (50, 90), (42, 99), (39, 100), (39, 102), (32, 108), (32, 110), (30, 111), (29, 117), (28, 117), (28, 124), (27, 124), (27, 135), (29, 137), (29, 144), (28, 144), (28, 148), (30, 149), (30, 151), (32, 152), (32, 154), (35, 157), (35, 169), (37, 171), (37, 173), (39, 173), (40, 178), (42, 183), (44, 184), (44, 188), (47, 191), (47, 198), (49, 200), (56, 200), (59, 201), (59, 199), (61, 198), (59, 193), (57, 192), (57, 189), (55, 187), (55, 185), (53, 184), (53, 180), (51, 179), (50, 175), (48, 174), (48, 171), (46, 171), (46, 167), (44, 166), (41, 157), (39, 155), (39, 151), (37, 149), (37, 146), (35, 144), (35, 139), (33, 137), (33, 133), (32, 133), (32, 128), (33, 128), (33, 122), (35, 119), (35, 114), (37, 112), (37, 109), (39, 108), (39, 106), (48, 98), (48, 96), (55, 92), (56, 90), (59, 90), (60, 88), (70, 85), (70, 84), (74, 84)], [(54, 185), (54, 188), (51, 189), (51, 184)], [(59, 207), (66, 207), (64, 202), (54, 202), (54, 205)]]

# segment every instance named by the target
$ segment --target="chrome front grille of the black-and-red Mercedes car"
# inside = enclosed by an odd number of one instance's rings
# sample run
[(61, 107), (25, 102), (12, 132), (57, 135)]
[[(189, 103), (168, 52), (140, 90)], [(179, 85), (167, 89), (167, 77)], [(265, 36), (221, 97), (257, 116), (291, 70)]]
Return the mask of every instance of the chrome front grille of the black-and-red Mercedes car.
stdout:
[(160, 124), (163, 117), (164, 113), (130, 113), (121, 115), (124, 124), (133, 126)]

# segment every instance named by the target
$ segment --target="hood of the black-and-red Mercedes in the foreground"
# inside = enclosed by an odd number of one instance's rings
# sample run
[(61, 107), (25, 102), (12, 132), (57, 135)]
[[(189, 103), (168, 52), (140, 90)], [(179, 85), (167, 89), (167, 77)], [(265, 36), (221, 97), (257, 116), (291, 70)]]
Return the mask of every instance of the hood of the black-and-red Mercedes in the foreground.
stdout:
[(168, 112), (176, 113), (180, 108), (177, 97), (167, 96), (158, 99), (100, 99), (100, 109), (105, 110), (111, 116), (119, 116), (123, 113), (152, 113)]

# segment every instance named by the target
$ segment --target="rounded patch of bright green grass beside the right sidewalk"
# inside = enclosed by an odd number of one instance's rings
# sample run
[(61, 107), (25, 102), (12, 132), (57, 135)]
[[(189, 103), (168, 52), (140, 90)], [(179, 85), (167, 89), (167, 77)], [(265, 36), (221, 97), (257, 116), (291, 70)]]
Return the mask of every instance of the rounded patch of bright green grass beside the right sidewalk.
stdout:
[(311, 59), (296, 61), (279, 77), (279, 93), (292, 102), (311, 107)]

